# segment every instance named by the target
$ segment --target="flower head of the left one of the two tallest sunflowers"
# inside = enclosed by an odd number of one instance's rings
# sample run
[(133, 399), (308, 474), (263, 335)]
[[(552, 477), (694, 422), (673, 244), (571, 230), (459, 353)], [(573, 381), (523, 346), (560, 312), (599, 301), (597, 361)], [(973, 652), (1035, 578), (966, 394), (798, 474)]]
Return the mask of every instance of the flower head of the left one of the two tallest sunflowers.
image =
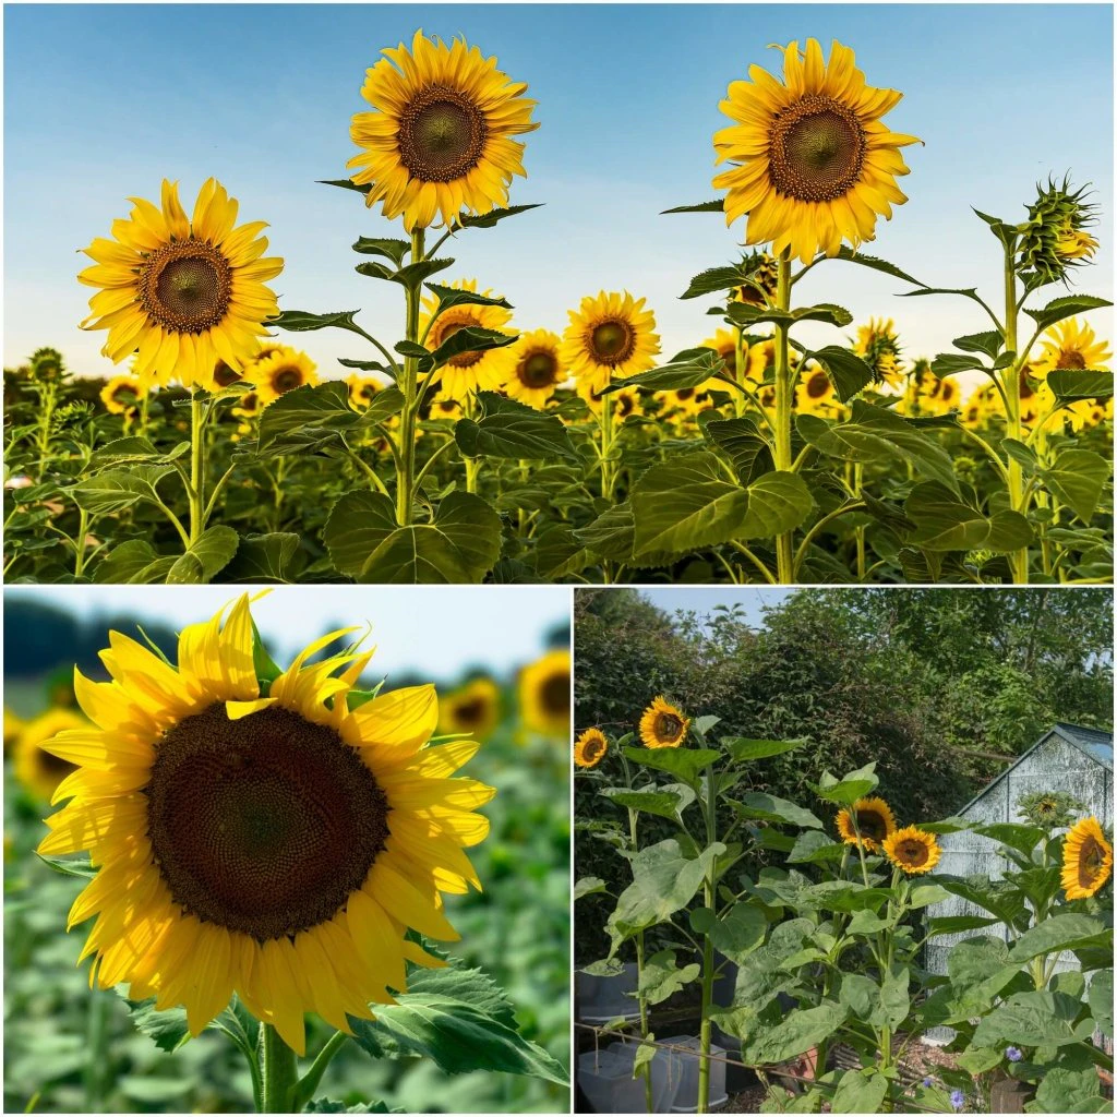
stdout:
[(416, 31), (410, 50), (401, 42), (382, 54), (361, 89), (373, 112), (357, 113), (350, 128), (363, 150), (347, 165), (371, 188), (365, 203), (402, 214), (409, 231), (507, 206), (513, 175), (527, 173), (524, 145), (512, 137), (538, 127), (527, 86), (464, 39), (447, 46)]

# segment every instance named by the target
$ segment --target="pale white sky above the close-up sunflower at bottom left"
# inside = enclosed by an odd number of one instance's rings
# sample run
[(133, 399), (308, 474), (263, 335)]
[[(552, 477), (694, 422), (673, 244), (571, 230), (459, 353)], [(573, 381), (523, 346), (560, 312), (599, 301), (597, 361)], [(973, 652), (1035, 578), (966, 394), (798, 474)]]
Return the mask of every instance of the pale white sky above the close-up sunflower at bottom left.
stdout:
[[(229, 586), (169, 585), (18, 586), (4, 593), (29, 595), (82, 619), (126, 614), (140, 624), (157, 620), (176, 630), (208, 620), (238, 595)], [(371, 676), (391, 680), (416, 671), (439, 681), (475, 667), (507, 676), (537, 658), (546, 650), (551, 630), (569, 622), (570, 590), (517, 585), (493, 593), (483, 586), (276, 586), (252, 605), (252, 615), (277, 659), (289, 659), (332, 628), (369, 623), (366, 646), (376, 648), (369, 665)]]

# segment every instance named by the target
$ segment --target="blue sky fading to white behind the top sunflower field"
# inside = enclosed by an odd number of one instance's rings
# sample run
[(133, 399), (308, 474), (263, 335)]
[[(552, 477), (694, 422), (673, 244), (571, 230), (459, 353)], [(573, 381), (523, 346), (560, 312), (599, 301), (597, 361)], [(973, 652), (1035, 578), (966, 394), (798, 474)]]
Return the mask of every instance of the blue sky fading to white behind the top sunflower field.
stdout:
[[(108, 235), (127, 195), (157, 199), (163, 176), (180, 180), (189, 210), (217, 175), (242, 219), (270, 222), (287, 260), (274, 284), (281, 306), (360, 307), (366, 327), (398, 340), (400, 292), (357, 276), (349, 247), (398, 226), (314, 180), (345, 175), (364, 70), (417, 27), (465, 34), (540, 102), (512, 201), (546, 208), (464, 235), (442, 276), (504, 293), (522, 328), (561, 332), (581, 296), (627, 287), (648, 297), (668, 354), (707, 335), (708, 304), (678, 295), (734, 257), (743, 226), (659, 212), (714, 197), (710, 136), (726, 123), (727, 84), (752, 63), (779, 68), (768, 44), (808, 36), (852, 46), (870, 84), (903, 90), (887, 123), (926, 142), (906, 149), (910, 201), (868, 251), (995, 299), (999, 246), (970, 207), (1019, 220), (1035, 181), (1069, 169), (1104, 206), (1102, 250), (1079, 289), (1111, 297), (1108, 4), (9, 4), (4, 363), (54, 344), (82, 372), (109, 371), (104, 335), (77, 330), (89, 290), (74, 278), (86, 260), (75, 250)], [(892, 316), (911, 355), (986, 328), (964, 299), (894, 297), (900, 289), (834, 262), (804, 281), (802, 300), (838, 302), (858, 321)], [(1094, 322), (1111, 337), (1108, 312)], [(337, 356), (365, 355), (337, 331), (286, 340), (327, 375), (341, 372)]]

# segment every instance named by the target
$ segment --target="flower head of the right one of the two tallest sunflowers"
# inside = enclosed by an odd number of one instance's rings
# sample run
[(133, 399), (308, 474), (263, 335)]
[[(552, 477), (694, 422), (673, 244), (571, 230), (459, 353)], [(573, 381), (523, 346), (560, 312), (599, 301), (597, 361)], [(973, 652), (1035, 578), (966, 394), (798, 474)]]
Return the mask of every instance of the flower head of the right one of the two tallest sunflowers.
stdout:
[(836, 256), (843, 240), (872, 240), (877, 216), (907, 201), (896, 185), (908, 173), (899, 149), (919, 142), (880, 122), (903, 94), (866, 85), (839, 42), (823, 63), (817, 39), (805, 54), (787, 45), (782, 83), (760, 66), (748, 76), (719, 106), (736, 123), (714, 136), (717, 162), (735, 164), (714, 179), (729, 191), (726, 222), (747, 213), (746, 244), (771, 242), (773, 256), (804, 264), (820, 250)]

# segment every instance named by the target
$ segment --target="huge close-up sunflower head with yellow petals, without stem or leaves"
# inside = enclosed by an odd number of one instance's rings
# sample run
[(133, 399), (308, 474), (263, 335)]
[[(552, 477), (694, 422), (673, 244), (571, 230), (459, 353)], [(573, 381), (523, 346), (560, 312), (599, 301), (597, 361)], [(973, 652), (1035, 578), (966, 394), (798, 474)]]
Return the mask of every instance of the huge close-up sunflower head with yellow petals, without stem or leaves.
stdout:
[(493, 789), (448, 779), (478, 746), (428, 744), (432, 686), (359, 704), (371, 652), (308, 662), (354, 629), (270, 684), (252, 631), (246, 595), (182, 631), (176, 667), (109, 633), (111, 681), (75, 672), (94, 725), (50, 744), (79, 767), (39, 851), (98, 869), (69, 925), (97, 916), (83, 957), (103, 987), (183, 1005), (194, 1035), (236, 992), (302, 1054), (305, 1012), (351, 1033), (405, 991), (405, 961), (440, 965), (404, 935), (458, 937), (440, 894), (479, 887), (462, 847)]

